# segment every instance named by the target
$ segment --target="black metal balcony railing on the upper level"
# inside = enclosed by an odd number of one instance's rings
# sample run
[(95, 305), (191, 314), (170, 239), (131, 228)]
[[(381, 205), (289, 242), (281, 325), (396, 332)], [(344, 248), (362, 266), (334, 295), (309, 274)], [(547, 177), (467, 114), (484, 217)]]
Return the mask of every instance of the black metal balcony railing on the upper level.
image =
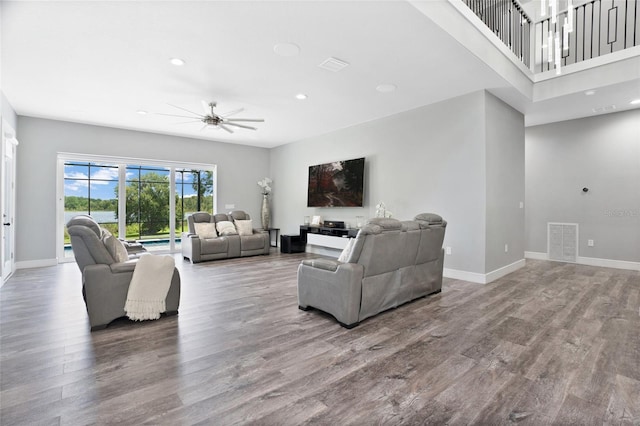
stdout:
[(536, 73), (640, 45), (638, 0), (540, 0), (537, 22), (515, 0), (463, 1)]

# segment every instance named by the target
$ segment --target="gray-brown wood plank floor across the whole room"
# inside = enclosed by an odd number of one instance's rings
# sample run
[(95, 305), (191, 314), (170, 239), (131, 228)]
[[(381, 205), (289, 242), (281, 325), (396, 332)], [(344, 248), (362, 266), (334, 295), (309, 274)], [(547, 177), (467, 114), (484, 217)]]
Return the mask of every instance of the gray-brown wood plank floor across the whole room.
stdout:
[(640, 424), (640, 273), (544, 261), (346, 330), (307, 255), (190, 265), (180, 314), (89, 332), (75, 264), (0, 290), (0, 423)]

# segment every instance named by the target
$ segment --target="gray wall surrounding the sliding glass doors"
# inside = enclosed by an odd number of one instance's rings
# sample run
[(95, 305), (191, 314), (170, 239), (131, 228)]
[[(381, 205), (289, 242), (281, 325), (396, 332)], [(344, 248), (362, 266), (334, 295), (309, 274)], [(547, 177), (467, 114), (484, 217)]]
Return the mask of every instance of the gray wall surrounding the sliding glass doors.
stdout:
[(257, 181), (269, 175), (265, 148), (22, 116), (17, 131), (18, 262), (56, 257), (58, 152), (217, 164), (218, 211), (235, 204), (260, 221)]

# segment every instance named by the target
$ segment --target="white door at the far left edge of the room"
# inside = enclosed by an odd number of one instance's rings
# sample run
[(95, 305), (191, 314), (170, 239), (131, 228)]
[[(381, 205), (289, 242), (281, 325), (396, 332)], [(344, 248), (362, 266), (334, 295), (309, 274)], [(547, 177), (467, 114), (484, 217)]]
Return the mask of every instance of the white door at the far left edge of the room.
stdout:
[(16, 170), (16, 146), (15, 131), (6, 122), (2, 123), (2, 174), (0, 175), (0, 211), (2, 212), (2, 226), (0, 234), (2, 245), (0, 246), (0, 261), (2, 265), (2, 281), (4, 282), (15, 269), (15, 170)]

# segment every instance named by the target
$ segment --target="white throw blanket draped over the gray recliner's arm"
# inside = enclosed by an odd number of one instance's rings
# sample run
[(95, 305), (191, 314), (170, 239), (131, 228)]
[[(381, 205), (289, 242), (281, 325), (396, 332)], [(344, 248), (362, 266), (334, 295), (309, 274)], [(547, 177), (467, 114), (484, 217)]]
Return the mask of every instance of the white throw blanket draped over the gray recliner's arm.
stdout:
[(124, 310), (134, 321), (158, 319), (167, 310), (165, 299), (175, 268), (171, 256), (140, 256), (129, 284)]

